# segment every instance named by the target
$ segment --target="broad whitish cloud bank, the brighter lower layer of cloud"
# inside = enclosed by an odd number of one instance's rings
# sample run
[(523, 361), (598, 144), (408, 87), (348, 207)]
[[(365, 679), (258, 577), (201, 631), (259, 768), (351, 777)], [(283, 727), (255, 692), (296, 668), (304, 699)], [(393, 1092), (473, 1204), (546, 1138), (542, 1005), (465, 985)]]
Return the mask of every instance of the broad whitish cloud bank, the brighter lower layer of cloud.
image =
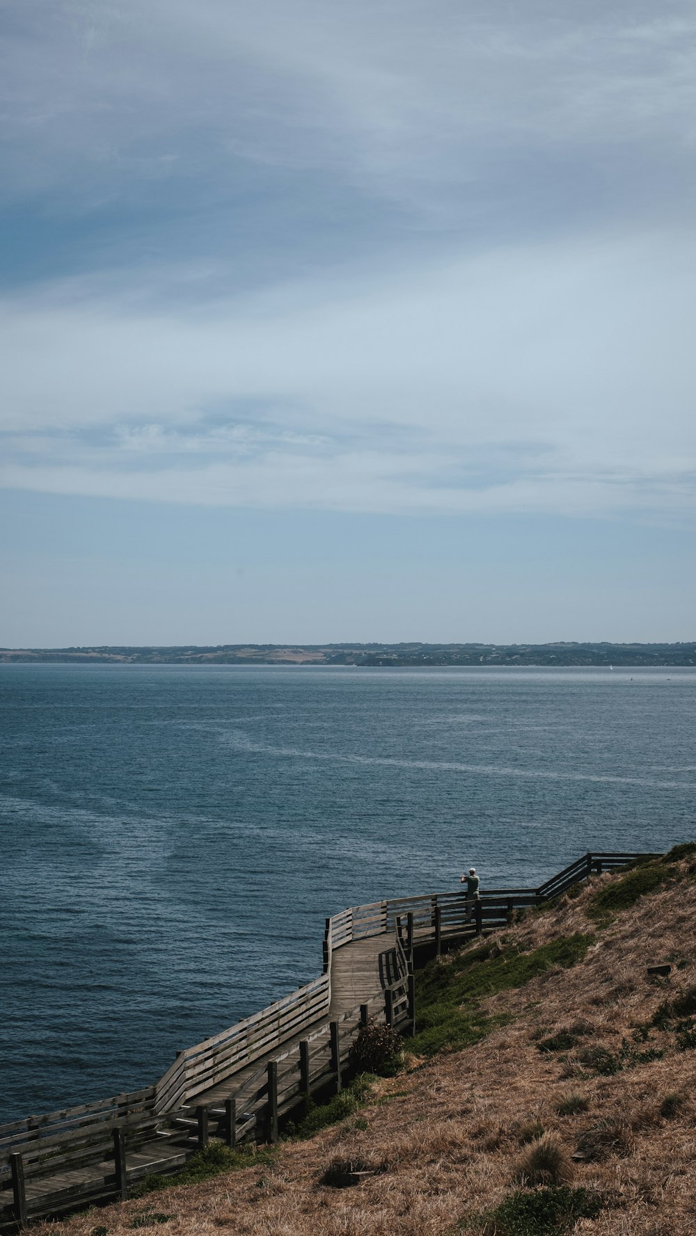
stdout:
[[(6, 486), (691, 517), (696, 245), (499, 250), (205, 313), (4, 308)], [(41, 363), (36, 363), (36, 356)]]

